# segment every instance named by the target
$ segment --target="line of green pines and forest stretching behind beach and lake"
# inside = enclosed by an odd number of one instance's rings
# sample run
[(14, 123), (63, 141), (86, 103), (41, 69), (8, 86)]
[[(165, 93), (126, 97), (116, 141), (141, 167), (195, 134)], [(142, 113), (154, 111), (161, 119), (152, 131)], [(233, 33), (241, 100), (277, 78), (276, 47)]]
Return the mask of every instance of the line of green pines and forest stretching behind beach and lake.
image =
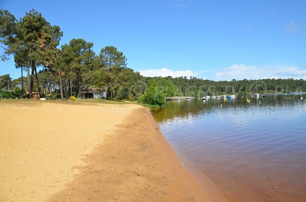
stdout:
[[(7, 10), (0, 10), (0, 47), (5, 61), (14, 56), (21, 76), (0, 76), (0, 97), (41, 96), (80, 97), (87, 89), (106, 91), (106, 99), (139, 100), (164, 105), (167, 97), (276, 92), (305, 92), (303, 79), (260, 79), (213, 81), (196, 77), (144, 77), (127, 67), (125, 55), (114, 46), (102, 48), (99, 54), (93, 43), (71, 39), (59, 47), (63, 36), (58, 25), (50, 24), (34, 9), (19, 20)], [(26, 76), (23, 76), (26, 72)], [(13, 91), (12, 91), (13, 90)], [(28, 92), (25, 95), (25, 92)]]

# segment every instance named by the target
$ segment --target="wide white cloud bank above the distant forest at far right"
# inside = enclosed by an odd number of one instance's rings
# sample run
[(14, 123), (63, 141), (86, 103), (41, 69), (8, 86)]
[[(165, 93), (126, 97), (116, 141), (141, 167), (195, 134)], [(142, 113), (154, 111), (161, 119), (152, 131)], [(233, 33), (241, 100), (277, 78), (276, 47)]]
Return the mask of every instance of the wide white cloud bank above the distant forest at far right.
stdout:
[(242, 80), (263, 78), (294, 78), (306, 79), (306, 69), (293, 66), (247, 66), (245, 64), (232, 65), (217, 70), (217, 80)]

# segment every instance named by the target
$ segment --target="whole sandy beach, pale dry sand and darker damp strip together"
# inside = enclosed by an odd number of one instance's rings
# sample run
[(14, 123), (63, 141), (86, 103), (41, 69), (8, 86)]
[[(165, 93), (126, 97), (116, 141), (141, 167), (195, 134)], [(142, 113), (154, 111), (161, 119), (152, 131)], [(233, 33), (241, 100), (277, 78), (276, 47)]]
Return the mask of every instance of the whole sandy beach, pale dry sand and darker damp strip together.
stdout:
[(226, 201), (136, 104), (1, 102), (0, 140), (1, 201)]

